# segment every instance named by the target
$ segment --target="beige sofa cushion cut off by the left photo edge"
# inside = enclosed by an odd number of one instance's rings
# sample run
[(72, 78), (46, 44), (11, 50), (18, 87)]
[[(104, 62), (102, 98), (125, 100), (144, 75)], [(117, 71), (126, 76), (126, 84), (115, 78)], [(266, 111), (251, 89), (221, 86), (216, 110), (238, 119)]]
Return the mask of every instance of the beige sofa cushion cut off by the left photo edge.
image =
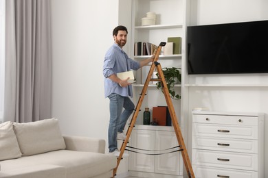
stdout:
[(0, 161), (21, 157), (19, 144), (11, 122), (0, 124)]

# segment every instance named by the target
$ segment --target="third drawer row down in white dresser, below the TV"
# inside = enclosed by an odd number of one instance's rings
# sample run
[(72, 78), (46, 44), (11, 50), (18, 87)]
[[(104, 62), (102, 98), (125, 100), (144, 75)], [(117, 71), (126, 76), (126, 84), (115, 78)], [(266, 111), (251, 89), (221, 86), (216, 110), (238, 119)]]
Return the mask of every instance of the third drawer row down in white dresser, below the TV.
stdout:
[(193, 136), (192, 148), (215, 151), (233, 151), (238, 153), (258, 153), (258, 141)]

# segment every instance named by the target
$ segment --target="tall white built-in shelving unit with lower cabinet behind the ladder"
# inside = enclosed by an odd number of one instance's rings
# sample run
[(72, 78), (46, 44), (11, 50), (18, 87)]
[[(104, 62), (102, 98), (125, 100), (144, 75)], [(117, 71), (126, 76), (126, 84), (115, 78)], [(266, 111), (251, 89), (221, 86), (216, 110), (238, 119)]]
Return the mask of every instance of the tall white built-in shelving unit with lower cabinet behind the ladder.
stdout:
[[(131, 31), (129, 31), (131, 58), (134, 60), (150, 57), (148, 55), (134, 56), (135, 42), (150, 42), (158, 45), (160, 42), (167, 42), (168, 37), (181, 37), (181, 54), (163, 55), (161, 53), (158, 62), (160, 62), (162, 68), (172, 66), (181, 68), (181, 84), (175, 85), (176, 92), (181, 94), (181, 100), (172, 100), (172, 103), (175, 107), (182, 132), (183, 128), (188, 127), (187, 121), (183, 121), (185, 116), (181, 114), (181, 110), (184, 110), (181, 103), (183, 102), (184, 95), (186, 95), (184, 98), (187, 99), (188, 93), (183, 92), (186, 78), (187, 4), (188, 1), (186, 0), (131, 0), (132, 20)], [(146, 12), (156, 13), (155, 25), (142, 26), (142, 18), (146, 16)], [(135, 77), (137, 82), (133, 84), (133, 103), (136, 104), (144, 86), (142, 84), (142, 68), (135, 72)], [(150, 84), (146, 97), (142, 102), (142, 110), (137, 117), (136, 127), (131, 134), (130, 144), (132, 147), (141, 147), (141, 149), (166, 148), (168, 146), (166, 141), (170, 141), (172, 145), (178, 144), (173, 127), (142, 125), (144, 108), (149, 107), (152, 114), (152, 108), (157, 105), (167, 105), (166, 100), (161, 90), (157, 90), (155, 84)], [(150, 118), (152, 120), (152, 115)], [(144, 141), (145, 138), (147, 139), (146, 141)], [(187, 138), (185, 140), (187, 145)], [(168, 162), (168, 160), (172, 162), (172, 165), (166, 164), (166, 168), (161, 168), (161, 165), (163, 166), (163, 163)], [(161, 155), (161, 157), (131, 153), (129, 172), (131, 175), (141, 177), (183, 177), (183, 160), (180, 153)]]

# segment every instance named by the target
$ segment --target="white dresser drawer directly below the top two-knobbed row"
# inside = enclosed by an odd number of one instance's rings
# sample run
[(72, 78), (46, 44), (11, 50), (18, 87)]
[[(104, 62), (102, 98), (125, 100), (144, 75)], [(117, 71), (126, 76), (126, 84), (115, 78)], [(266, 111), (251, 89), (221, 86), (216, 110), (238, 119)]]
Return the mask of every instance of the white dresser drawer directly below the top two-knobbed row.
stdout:
[(204, 123), (193, 123), (193, 136), (211, 136), (221, 138), (245, 138), (258, 139), (258, 127), (238, 125), (210, 125)]

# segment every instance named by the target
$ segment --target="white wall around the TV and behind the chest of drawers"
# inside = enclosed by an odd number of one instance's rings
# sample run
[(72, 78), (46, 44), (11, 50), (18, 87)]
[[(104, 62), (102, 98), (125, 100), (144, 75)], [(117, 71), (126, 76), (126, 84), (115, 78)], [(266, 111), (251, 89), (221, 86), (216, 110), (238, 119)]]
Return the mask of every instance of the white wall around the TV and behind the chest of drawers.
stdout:
[[(268, 1), (265, 0), (193, 0), (191, 4), (190, 24), (206, 25), (268, 20), (267, 7)], [(268, 75), (194, 75), (190, 76), (189, 83), (216, 84), (218, 86), (189, 88), (190, 118), (188, 138), (191, 138), (191, 110), (194, 107), (209, 107), (210, 110), (216, 111), (262, 112), (265, 114), (265, 168), (267, 168)], [(239, 84), (244, 86), (235, 87), (235, 85)], [(268, 177), (267, 169), (265, 169), (265, 177)]]

